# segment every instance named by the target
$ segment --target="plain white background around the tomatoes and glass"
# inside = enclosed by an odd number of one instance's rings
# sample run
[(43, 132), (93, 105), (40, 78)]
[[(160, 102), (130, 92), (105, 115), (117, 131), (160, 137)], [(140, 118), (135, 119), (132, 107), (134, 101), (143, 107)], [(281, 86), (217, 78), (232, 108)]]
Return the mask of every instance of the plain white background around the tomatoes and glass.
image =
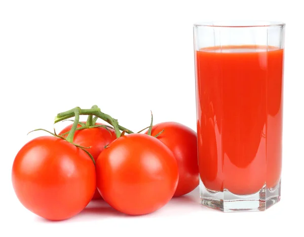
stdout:
[[(296, 1), (1, 1), (0, 236), (266, 236), (302, 233), (303, 24)], [(282, 199), (266, 212), (221, 213), (195, 190), (161, 210), (126, 217), (94, 203), (62, 222), (27, 211), (15, 196), (18, 150), (53, 128), (54, 116), (97, 104), (133, 130), (178, 121), (196, 129), (193, 23), (286, 23)], [(56, 125), (59, 130), (66, 123)], [(123, 198), (123, 197), (122, 197)], [(101, 205), (101, 206), (100, 206)]]

